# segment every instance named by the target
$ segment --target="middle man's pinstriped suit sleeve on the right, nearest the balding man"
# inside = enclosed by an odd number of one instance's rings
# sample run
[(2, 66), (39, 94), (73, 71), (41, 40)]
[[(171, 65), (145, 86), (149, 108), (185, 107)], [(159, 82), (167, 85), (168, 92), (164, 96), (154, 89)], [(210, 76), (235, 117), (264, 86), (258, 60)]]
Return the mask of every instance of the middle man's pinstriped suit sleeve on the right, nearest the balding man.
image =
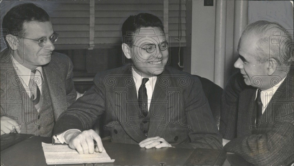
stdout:
[(187, 123), (190, 126), (188, 136), (191, 141), (177, 147), (222, 149), (222, 138), (198, 78), (187, 89), (184, 100)]

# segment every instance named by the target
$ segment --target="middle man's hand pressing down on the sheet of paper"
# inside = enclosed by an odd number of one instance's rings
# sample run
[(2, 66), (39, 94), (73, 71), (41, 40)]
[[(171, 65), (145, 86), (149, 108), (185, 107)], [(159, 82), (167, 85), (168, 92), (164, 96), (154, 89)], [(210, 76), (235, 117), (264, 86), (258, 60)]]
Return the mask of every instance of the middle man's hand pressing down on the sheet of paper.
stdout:
[[(64, 139), (68, 142), (71, 149), (76, 149), (79, 154), (92, 154), (95, 152), (102, 152), (103, 145), (101, 138), (94, 130), (68, 131), (64, 135)], [(94, 140), (97, 146), (94, 147)]]

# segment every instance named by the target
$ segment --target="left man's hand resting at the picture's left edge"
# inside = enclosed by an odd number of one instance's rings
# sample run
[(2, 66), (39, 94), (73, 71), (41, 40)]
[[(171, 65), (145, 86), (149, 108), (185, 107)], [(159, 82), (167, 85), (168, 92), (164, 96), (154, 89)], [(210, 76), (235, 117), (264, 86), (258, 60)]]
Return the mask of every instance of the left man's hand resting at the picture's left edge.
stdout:
[(2, 116), (0, 118), (0, 125), (1, 125), (1, 135), (3, 134), (9, 134), (11, 132), (16, 131), (17, 133), (20, 133), (21, 126), (13, 119)]

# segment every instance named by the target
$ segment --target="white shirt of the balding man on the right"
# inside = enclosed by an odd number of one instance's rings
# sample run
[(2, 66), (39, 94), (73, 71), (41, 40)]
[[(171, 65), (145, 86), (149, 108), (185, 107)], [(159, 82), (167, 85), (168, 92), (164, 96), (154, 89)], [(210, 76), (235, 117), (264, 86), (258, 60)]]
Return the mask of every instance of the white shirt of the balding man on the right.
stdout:
[[(286, 78), (286, 77), (285, 77)], [(270, 100), (272, 99), (273, 95), (275, 94), (275, 92), (277, 91), (277, 89), (280, 87), (280, 85), (283, 83), (283, 81), (285, 80), (285, 78), (283, 78), (278, 84), (276, 84), (274, 87), (270, 88), (270, 89), (266, 89), (266, 90), (261, 90), (260, 92), (260, 99), (262, 102), (262, 114), (265, 111), (266, 107), (268, 106), (268, 103), (270, 102)], [(257, 89), (258, 90), (258, 89)], [(257, 97), (257, 90), (256, 90), (256, 94), (255, 94), (255, 99)]]

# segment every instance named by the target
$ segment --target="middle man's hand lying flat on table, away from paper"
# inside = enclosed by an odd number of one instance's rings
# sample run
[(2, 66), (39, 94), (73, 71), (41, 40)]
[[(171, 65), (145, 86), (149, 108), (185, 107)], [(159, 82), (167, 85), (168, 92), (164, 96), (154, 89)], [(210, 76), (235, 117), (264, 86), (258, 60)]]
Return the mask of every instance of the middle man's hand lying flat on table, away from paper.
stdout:
[(156, 148), (162, 148), (162, 147), (172, 147), (171, 144), (166, 142), (165, 139), (161, 137), (151, 137), (147, 138), (139, 143), (140, 147), (145, 147), (146, 149), (156, 147)]

